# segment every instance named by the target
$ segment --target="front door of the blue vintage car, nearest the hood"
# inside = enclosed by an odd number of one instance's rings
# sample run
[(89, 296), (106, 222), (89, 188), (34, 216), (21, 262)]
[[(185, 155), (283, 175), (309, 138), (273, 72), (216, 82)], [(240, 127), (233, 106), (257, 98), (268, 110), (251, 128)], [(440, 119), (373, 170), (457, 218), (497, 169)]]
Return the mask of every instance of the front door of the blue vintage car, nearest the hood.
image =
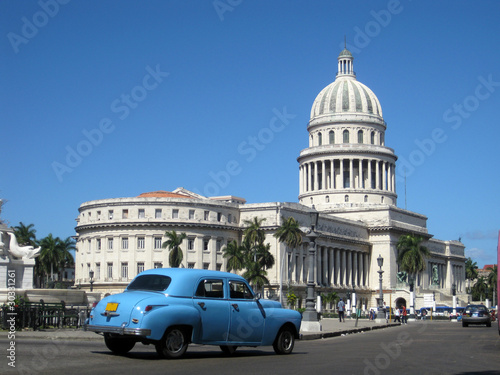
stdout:
[(246, 283), (229, 281), (229, 342), (259, 345), (265, 326), (265, 312)]

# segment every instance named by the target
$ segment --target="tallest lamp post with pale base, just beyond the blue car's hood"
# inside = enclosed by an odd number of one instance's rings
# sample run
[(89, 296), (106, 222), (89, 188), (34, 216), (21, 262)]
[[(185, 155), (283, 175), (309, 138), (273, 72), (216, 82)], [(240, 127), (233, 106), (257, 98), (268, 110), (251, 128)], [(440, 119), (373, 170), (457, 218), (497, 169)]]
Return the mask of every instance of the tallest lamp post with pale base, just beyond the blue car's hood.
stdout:
[(314, 282), (314, 255), (316, 253), (316, 239), (318, 234), (314, 231), (318, 223), (319, 213), (314, 209), (310, 212), (311, 217), (311, 230), (307, 234), (309, 240), (308, 249), (308, 276), (307, 276), (307, 297), (306, 297), (306, 310), (302, 314), (302, 331), (305, 332), (318, 332), (321, 331), (321, 323), (318, 320), (318, 312), (314, 308), (314, 303), (316, 298), (314, 297), (314, 288), (316, 286)]

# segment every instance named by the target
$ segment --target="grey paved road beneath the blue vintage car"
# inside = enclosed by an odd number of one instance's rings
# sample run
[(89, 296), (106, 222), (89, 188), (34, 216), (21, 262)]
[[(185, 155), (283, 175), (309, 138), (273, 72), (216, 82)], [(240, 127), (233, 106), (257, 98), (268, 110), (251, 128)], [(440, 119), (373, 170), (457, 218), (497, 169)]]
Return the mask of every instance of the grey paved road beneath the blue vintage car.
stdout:
[[(189, 347), (185, 358), (160, 360), (151, 346), (127, 357), (112, 355), (99, 340), (16, 339), (16, 369), (0, 357), (0, 373), (22, 374), (500, 374), (496, 327), (415, 322), (296, 343), (289, 356), (272, 348), (238, 349), (224, 357), (217, 347)], [(2, 352), (8, 340), (0, 340)]]

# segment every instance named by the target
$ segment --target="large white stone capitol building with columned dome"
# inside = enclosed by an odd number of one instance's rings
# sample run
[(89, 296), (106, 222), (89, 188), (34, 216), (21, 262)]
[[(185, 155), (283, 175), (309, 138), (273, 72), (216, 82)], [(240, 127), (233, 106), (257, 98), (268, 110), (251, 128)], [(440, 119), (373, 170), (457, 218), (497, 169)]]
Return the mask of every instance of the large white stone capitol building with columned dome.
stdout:
[(265, 297), (278, 298), (282, 286), (282, 293), (293, 289), (304, 301), (310, 238), (305, 232), (301, 247), (286, 249), (274, 234), (290, 216), (309, 228), (310, 213), (319, 213), (313, 259), (318, 293), (355, 292), (364, 310), (375, 307), (377, 258), (382, 257), (387, 304), (410, 306), (396, 244), (401, 235), (416, 234), (431, 257), (414, 280), (414, 306), (429, 307), (429, 296), (433, 303), (451, 305), (452, 290), (459, 303), (466, 303), (464, 245), (434, 239), (424, 215), (397, 207), (397, 156), (385, 146), (380, 102), (357, 81), (353, 61), (344, 49), (335, 81), (312, 105), (308, 148), (297, 159), (299, 203), (247, 204), (242, 198), (204, 197), (183, 188), (85, 202), (76, 226), (76, 284), (117, 293), (143, 270), (168, 267), (168, 249), (162, 244), (165, 232), (174, 230), (186, 233), (181, 267), (225, 271), (224, 248), (233, 240), (241, 243), (245, 222), (257, 217), (264, 219), (265, 243), (275, 259), (267, 270)]

